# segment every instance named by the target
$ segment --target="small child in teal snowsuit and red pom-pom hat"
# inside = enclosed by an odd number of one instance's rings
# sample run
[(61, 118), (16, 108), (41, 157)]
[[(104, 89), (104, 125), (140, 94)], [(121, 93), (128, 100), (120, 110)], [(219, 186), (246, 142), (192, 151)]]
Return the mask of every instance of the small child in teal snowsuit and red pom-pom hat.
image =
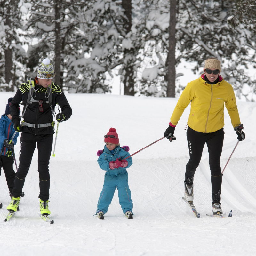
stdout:
[(131, 190), (128, 186), (128, 173), (126, 168), (132, 165), (132, 158), (120, 161), (130, 156), (128, 153), (129, 147), (120, 147), (118, 134), (115, 128), (110, 128), (109, 132), (104, 136), (104, 142), (106, 143), (104, 150), (97, 152), (98, 163), (100, 168), (106, 171), (103, 189), (100, 193), (98, 201), (98, 209), (96, 214), (99, 219), (104, 219), (103, 214), (108, 212), (108, 206), (111, 203), (115, 190), (118, 190), (119, 203), (125, 216), (128, 219), (132, 219), (132, 199)]

